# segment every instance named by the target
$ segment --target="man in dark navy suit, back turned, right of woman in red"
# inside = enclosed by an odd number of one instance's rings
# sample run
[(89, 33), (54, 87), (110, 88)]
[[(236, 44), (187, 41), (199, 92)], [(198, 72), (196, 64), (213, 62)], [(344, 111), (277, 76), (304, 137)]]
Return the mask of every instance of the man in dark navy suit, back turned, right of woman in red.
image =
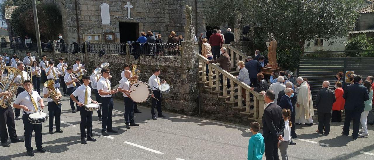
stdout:
[(350, 120), (353, 117), (353, 139), (357, 139), (360, 127), (361, 113), (364, 111), (364, 101), (369, 100), (369, 95), (366, 87), (361, 86), (361, 76), (356, 76), (353, 79), (353, 84), (345, 87), (343, 98), (346, 99), (344, 109), (346, 110), (346, 119), (344, 120), (343, 132), (341, 134), (349, 135)]

